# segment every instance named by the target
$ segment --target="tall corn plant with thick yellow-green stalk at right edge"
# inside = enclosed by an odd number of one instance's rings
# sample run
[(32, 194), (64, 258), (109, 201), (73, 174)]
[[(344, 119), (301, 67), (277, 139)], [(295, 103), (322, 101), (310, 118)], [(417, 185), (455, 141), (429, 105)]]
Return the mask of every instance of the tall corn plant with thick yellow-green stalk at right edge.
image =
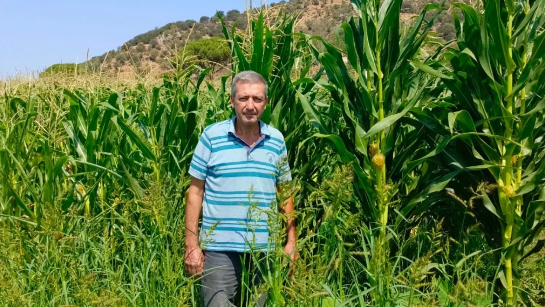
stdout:
[(535, 242), (545, 209), (545, 1), (487, 0), (482, 12), (454, 5), (464, 21), (453, 11), (457, 49), (444, 55), (450, 67), (417, 64), (442, 80), (456, 104), (448, 117), (452, 136), (434, 154), (456, 142), (449, 154), (464, 156), (459, 164), (489, 170), (471, 176), (489, 186), (482, 202), (501, 227), (499, 278), (513, 305), (528, 297), (518, 288), (521, 261), (545, 243)]

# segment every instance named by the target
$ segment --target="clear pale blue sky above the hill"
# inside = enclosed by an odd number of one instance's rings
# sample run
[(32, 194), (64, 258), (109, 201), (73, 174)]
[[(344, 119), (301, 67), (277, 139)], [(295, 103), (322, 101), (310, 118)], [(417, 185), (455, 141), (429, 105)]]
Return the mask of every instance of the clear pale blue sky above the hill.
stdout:
[(81, 63), (87, 49), (89, 58), (102, 55), (168, 22), (245, 7), (245, 0), (0, 0), (0, 79)]

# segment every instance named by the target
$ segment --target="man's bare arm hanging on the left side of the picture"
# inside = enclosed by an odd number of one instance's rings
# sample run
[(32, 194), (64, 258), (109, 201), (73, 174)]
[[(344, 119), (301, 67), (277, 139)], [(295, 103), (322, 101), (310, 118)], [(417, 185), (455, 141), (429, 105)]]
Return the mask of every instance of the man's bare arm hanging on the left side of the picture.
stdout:
[(204, 180), (191, 178), (185, 212), (185, 268), (190, 275), (201, 275), (204, 270), (204, 255), (198, 240), (203, 195)]

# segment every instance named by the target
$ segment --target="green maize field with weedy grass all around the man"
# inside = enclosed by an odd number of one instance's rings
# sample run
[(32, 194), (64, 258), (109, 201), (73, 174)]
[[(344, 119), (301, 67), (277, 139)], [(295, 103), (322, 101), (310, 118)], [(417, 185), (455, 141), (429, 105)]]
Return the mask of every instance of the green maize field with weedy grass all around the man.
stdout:
[[(223, 24), (232, 73), (269, 82), (262, 119), (286, 138), (298, 225), (293, 276), (278, 246), (243, 291), (266, 289), (267, 306), (545, 305), (545, 0), (428, 4), (408, 24), (402, 0), (352, 3), (341, 48), (294, 16)], [(439, 14), (455, 40), (433, 39)], [(202, 306), (184, 270), (187, 169), (202, 130), (233, 116), (232, 75), (209, 74), (3, 84), (0, 306)]]

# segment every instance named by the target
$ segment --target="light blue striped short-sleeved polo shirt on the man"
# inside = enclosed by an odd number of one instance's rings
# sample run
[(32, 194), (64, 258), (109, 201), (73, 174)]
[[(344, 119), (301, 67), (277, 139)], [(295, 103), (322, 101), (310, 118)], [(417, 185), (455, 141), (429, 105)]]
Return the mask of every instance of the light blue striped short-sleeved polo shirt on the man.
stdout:
[(199, 240), (206, 250), (245, 252), (274, 244), (269, 217), (278, 212), (276, 185), (292, 179), (280, 131), (259, 121), (261, 136), (250, 147), (235, 133), (235, 119), (204, 129), (189, 168), (205, 181)]

